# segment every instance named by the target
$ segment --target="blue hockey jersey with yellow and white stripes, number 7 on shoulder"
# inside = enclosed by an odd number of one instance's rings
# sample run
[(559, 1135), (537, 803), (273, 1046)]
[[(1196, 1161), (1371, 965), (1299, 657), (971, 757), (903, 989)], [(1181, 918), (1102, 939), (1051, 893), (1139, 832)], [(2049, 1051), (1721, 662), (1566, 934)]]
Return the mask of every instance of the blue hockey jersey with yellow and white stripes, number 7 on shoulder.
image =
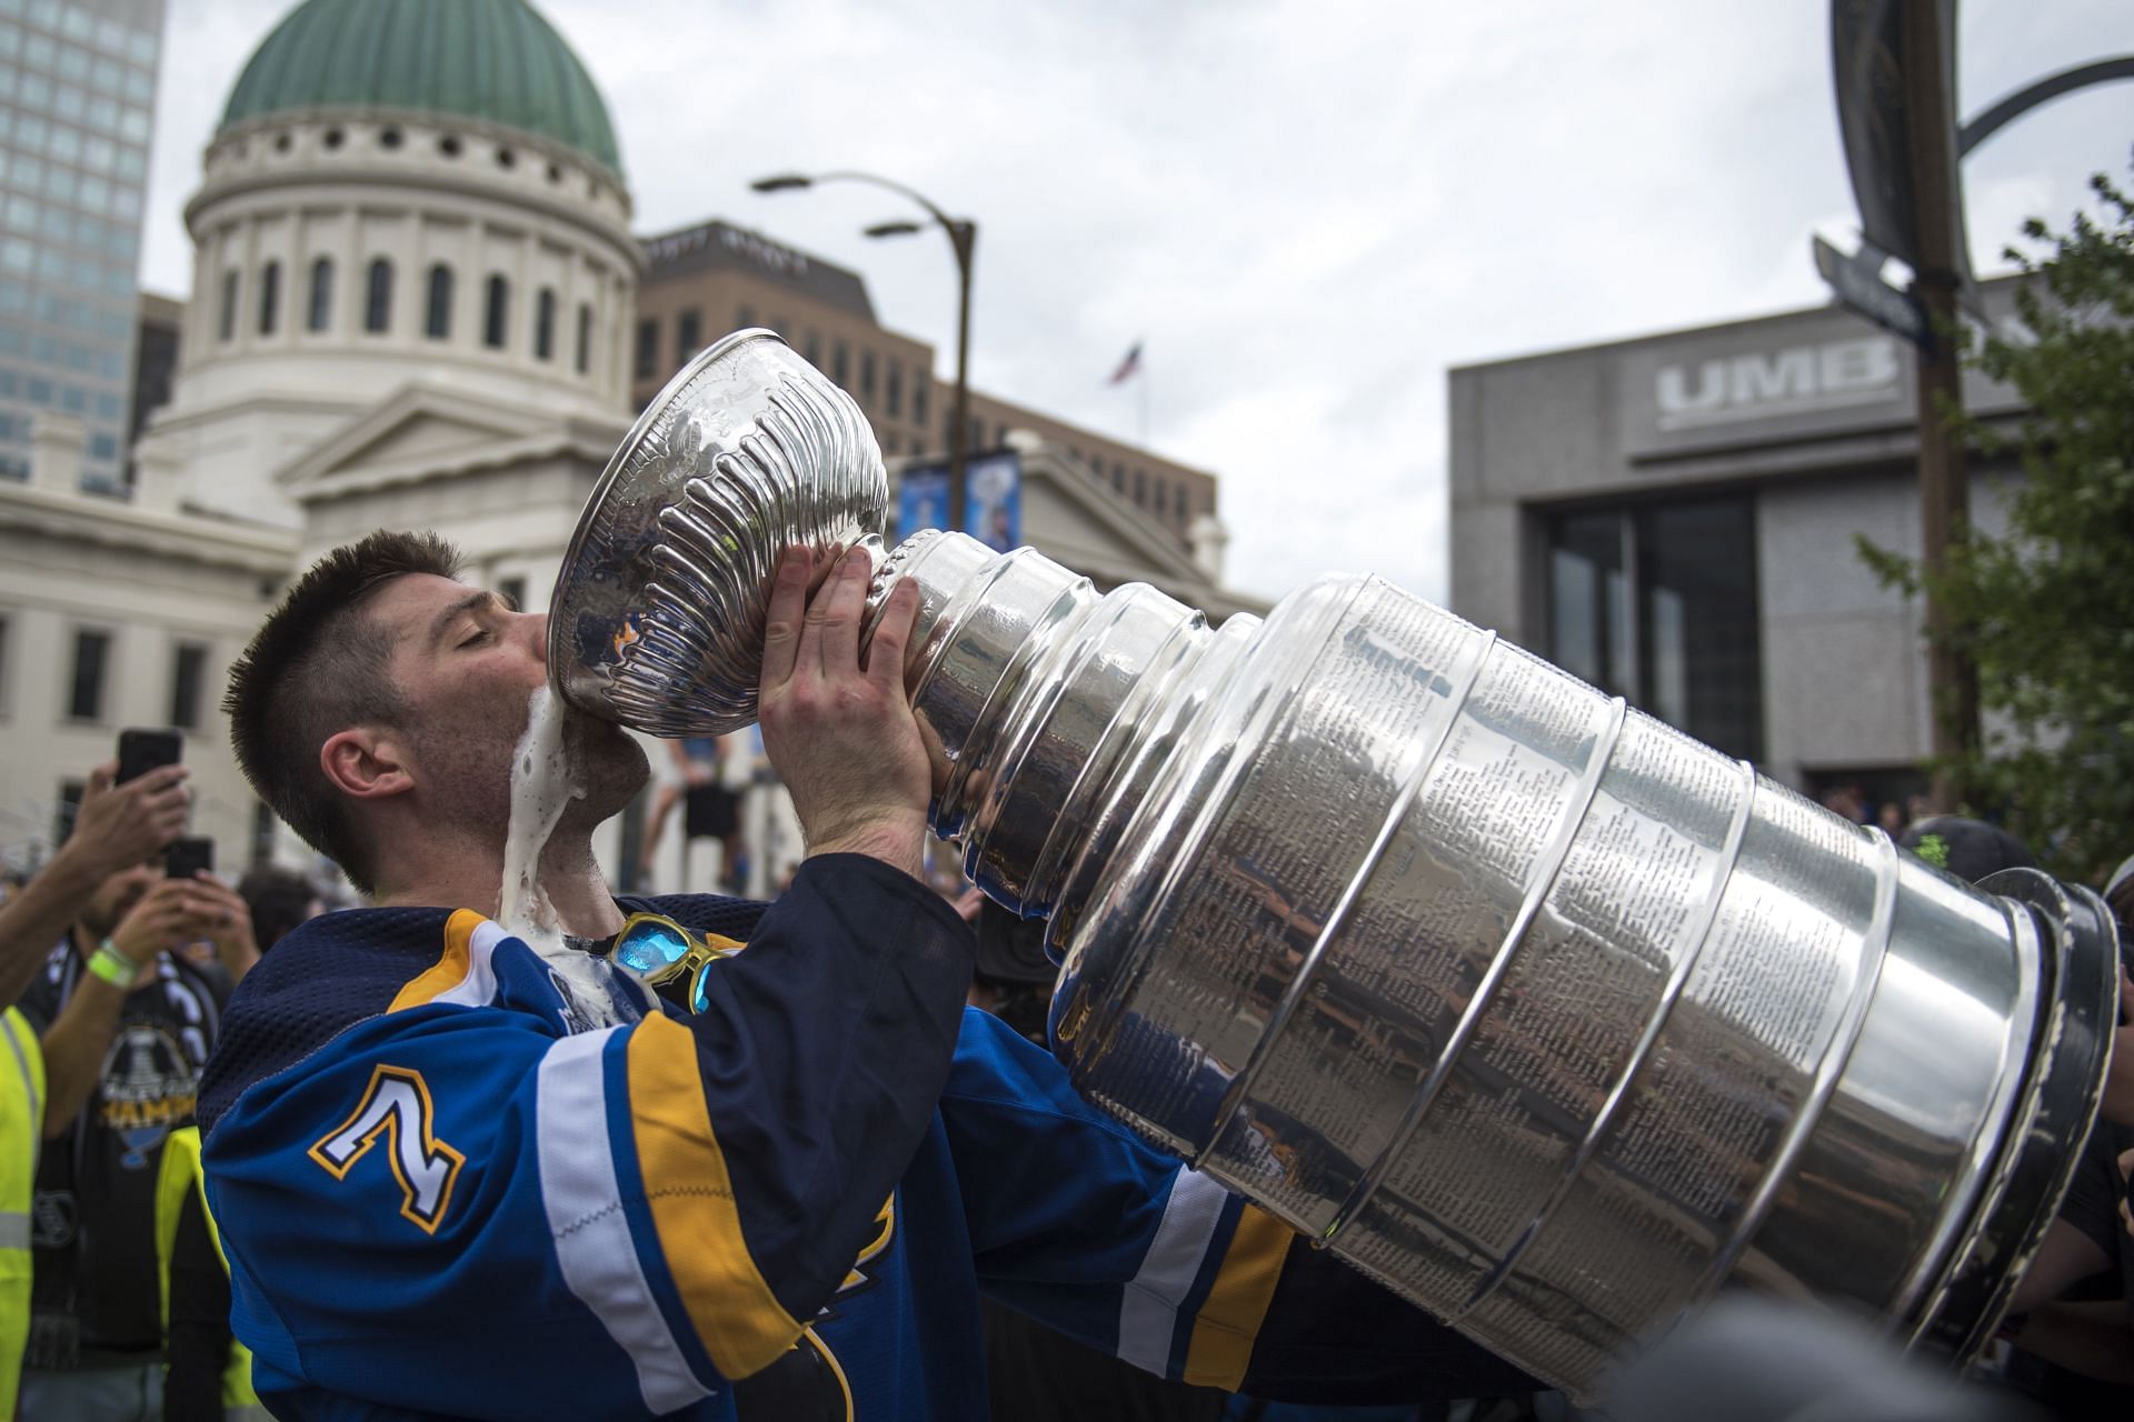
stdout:
[(967, 1017), (924, 885), (832, 855), (768, 910), (649, 906), (749, 942), (700, 1013), (442, 908), (316, 919), (239, 987), (201, 1124), (277, 1416), (975, 1420), (980, 1290), (1221, 1388), (1524, 1384)]

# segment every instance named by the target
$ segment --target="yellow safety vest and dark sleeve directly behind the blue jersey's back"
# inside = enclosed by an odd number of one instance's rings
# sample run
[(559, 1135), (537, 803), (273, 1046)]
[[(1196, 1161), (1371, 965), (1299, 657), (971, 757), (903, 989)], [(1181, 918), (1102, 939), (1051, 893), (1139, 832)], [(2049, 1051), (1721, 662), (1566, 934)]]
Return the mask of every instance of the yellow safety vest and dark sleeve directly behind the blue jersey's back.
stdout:
[[(211, 1264), (205, 1264), (205, 1256), (213, 1256)], [(203, 1273), (205, 1279), (201, 1279)], [(222, 1232), (207, 1209), (198, 1126), (173, 1130), (162, 1145), (162, 1166), (156, 1175), (156, 1275), (162, 1281), (162, 1335), (171, 1360), (162, 1394), (164, 1418), (171, 1422), (218, 1416), (226, 1422), (267, 1418), (258, 1394), (252, 1392), (252, 1350), (230, 1337), (228, 1260), (222, 1258)], [(177, 1281), (175, 1290), (173, 1279)], [(188, 1307), (184, 1296), (190, 1279), (198, 1279), (192, 1288), (198, 1300)], [(173, 1292), (181, 1296), (175, 1311), (171, 1307)], [(213, 1324), (190, 1339), (179, 1337), (190, 1322), (188, 1313), (196, 1320), (201, 1311), (213, 1313)], [(203, 1354), (222, 1364), (220, 1409), (216, 1407), (218, 1399), (211, 1396), (216, 1392), (213, 1377), (188, 1377), (188, 1371), (207, 1373), (207, 1369), (196, 1367)], [(224, 1358), (226, 1362), (222, 1362)]]

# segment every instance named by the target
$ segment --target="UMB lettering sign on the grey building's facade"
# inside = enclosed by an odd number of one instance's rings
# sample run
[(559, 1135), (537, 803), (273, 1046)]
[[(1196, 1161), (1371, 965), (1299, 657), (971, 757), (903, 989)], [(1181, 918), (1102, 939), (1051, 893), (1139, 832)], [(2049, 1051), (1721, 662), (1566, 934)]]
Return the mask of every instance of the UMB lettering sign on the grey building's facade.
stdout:
[(1852, 337), (1662, 365), (1654, 403), (1662, 431), (1699, 429), (1886, 401), (1901, 375), (1891, 337)]

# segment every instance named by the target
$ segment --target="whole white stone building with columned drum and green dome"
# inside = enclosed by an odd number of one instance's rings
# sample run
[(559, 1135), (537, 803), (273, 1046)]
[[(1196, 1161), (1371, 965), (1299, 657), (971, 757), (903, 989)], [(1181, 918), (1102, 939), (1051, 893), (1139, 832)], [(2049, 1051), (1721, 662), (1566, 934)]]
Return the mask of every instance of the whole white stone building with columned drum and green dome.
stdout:
[[(630, 429), (630, 190), (600, 92), (525, 0), (303, 0), (230, 90), (186, 224), (192, 301), (132, 499), (83, 490), (79, 420), (41, 420), (32, 478), (0, 480), (17, 870), (128, 725), (186, 733), (222, 868), (312, 863), (216, 708), (282, 586), (371, 529), (437, 529), (540, 608)], [(600, 851), (619, 861), (617, 827)]]

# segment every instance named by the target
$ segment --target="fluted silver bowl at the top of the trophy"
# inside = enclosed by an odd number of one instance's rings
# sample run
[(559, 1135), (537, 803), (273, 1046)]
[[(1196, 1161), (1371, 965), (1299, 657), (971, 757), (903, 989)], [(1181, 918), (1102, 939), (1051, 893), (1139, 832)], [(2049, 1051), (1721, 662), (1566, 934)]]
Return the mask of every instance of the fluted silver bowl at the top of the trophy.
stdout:
[(775, 333), (736, 330), (644, 407), (587, 499), (548, 610), (551, 680), (655, 736), (751, 725), (779, 554), (879, 548), (888, 501), (851, 397)]

